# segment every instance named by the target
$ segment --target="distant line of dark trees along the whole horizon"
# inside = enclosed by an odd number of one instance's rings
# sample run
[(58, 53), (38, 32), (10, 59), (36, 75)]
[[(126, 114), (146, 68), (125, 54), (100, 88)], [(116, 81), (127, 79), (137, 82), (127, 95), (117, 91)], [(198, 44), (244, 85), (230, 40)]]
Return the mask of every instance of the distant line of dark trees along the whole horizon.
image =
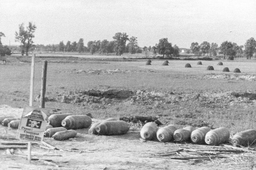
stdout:
[[(68, 41), (66, 45), (63, 41), (59, 44), (52, 45), (35, 45), (33, 38), (36, 30), (36, 25), (29, 22), (28, 26), (24, 27), (24, 23), (19, 25), (19, 31), (15, 31), (15, 41), (20, 42), (21, 55), (28, 55), (29, 51), (62, 51), (62, 52), (89, 52), (90, 54), (108, 54), (115, 53), (116, 55), (122, 55), (123, 53), (142, 53), (152, 52), (154, 55), (157, 53), (166, 55), (167, 57), (178, 57), (179, 47), (177, 45), (172, 46), (172, 43), (168, 42), (167, 38), (162, 38), (159, 40), (155, 46), (144, 46), (141, 48), (138, 45), (137, 37), (130, 37), (126, 33), (116, 33), (113, 36), (113, 40), (94, 40), (87, 42), (87, 46), (84, 45), (84, 39), (80, 38), (78, 42)], [(0, 55), (11, 55), (11, 50), (8, 46), (3, 46), (1, 42), (1, 37), (5, 37), (5, 34), (0, 32)], [(127, 44), (126, 44), (127, 42)], [(238, 46), (234, 42), (224, 41), (218, 47), (217, 43), (209, 43), (207, 41), (202, 42), (200, 45), (197, 42), (191, 43), (190, 49), (187, 53), (193, 53), (194, 55), (213, 55), (216, 56), (217, 53), (223, 54), (224, 59), (228, 57), (229, 60), (233, 60), (234, 57), (247, 57), (251, 59), (253, 54), (256, 52), (256, 41), (253, 37), (248, 39), (244, 46)]]

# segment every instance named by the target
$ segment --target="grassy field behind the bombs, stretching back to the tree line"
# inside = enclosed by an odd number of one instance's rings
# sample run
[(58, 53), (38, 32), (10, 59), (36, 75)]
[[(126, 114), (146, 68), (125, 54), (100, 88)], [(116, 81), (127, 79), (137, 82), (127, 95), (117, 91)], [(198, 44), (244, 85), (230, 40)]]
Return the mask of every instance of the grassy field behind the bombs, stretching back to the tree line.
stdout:
[[(98, 59), (47, 59), (46, 97), (50, 101), (45, 106), (59, 108), (63, 113), (92, 113), (97, 119), (152, 115), (159, 117), (163, 124), (180, 128), (185, 125), (227, 127), (232, 134), (256, 128), (256, 101), (230, 95), (231, 92), (256, 92), (256, 62), (253, 60), (222, 61), (223, 66), (217, 66), (220, 60), (202, 61), (203, 65), (196, 65), (197, 61), (169, 60), (169, 66), (161, 66), (164, 60), (152, 60), (152, 65), (146, 66), (146, 60)], [(43, 60), (37, 58), (35, 63), (34, 99), (40, 93)], [(0, 104), (20, 108), (29, 104), (29, 62), (29, 58), (8, 58), (5, 65), (0, 65)], [(186, 63), (192, 68), (185, 68)], [(213, 66), (214, 70), (206, 70), (207, 66)], [(222, 72), (224, 67), (229, 67), (230, 72)], [(241, 73), (233, 73), (235, 68)], [(133, 95), (123, 99), (91, 96), (84, 99), (79, 90), (90, 89), (128, 89)], [(71, 102), (63, 101), (64, 97)], [(33, 104), (39, 106), (38, 101)], [(204, 165), (208, 164), (212, 163)], [(229, 166), (226, 164), (227, 169)], [(239, 167), (233, 165), (230, 169)], [(152, 166), (145, 168), (154, 169)], [(207, 169), (207, 166), (199, 168)], [(221, 164), (216, 168), (221, 168)]]

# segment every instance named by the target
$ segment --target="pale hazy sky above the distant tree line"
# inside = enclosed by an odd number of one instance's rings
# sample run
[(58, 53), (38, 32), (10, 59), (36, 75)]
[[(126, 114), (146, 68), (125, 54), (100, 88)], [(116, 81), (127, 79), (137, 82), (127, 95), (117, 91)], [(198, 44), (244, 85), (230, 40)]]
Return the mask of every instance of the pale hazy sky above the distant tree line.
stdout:
[(125, 32), (141, 47), (161, 38), (180, 48), (203, 41), (244, 45), (256, 38), (256, 0), (0, 0), (3, 44), (19, 44), (15, 31), (29, 21), (37, 26), (35, 44), (83, 38), (87, 45)]

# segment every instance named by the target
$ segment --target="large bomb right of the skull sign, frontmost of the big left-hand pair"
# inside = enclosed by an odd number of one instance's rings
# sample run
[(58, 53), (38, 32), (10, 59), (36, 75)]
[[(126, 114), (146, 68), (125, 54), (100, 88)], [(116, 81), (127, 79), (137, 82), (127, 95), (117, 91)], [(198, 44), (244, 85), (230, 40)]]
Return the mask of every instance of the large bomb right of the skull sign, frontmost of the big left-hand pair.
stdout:
[(61, 122), (66, 129), (88, 128), (92, 124), (92, 119), (87, 115), (70, 115)]

